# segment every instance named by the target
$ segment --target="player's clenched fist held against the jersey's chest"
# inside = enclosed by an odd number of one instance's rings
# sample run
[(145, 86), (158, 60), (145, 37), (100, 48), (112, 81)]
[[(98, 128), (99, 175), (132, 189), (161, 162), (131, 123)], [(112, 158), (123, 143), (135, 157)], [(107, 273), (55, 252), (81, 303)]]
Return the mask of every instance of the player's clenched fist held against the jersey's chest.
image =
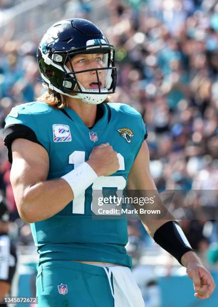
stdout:
[(87, 163), (97, 176), (109, 176), (116, 173), (119, 168), (118, 153), (109, 143), (94, 147)]

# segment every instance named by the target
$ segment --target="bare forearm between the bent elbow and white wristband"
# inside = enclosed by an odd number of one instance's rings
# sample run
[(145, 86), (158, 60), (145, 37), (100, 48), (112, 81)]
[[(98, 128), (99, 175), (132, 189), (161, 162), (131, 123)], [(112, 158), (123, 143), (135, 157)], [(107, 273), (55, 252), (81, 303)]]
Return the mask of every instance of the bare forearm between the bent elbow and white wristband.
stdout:
[(63, 179), (43, 181), (25, 189), (19, 213), (34, 223), (48, 219), (61, 211), (73, 199), (73, 192)]

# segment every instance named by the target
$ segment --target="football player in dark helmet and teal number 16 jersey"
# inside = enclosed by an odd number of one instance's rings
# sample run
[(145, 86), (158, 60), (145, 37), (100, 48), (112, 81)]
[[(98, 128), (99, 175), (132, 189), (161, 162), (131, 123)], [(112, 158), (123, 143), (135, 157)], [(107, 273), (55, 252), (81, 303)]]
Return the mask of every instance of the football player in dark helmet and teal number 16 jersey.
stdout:
[[(127, 219), (95, 219), (93, 191), (153, 190), (147, 131), (115, 92), (115, 50), (94, 24), (54, 24), (37, 51), (47, 92), (6, 118), (5, 144), (21, 218), (38, 248), (37, 296), (46, 306), (144, 306), (132, 278)], [(147, 221), (149, 234), (187, 267), (195, 296), (214, 288), (210, 273), (174, 219)]]

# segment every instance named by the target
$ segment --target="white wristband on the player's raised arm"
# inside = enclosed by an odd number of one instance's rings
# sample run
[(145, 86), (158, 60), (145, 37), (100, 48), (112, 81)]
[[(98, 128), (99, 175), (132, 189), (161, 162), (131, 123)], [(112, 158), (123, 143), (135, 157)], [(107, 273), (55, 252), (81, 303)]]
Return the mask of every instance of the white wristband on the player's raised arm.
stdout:
[(78, 168), (62, 176), (73, 191), (74, 199), (85, 191), (97, 179), (97, 174), (86, 162), (83, 162)]

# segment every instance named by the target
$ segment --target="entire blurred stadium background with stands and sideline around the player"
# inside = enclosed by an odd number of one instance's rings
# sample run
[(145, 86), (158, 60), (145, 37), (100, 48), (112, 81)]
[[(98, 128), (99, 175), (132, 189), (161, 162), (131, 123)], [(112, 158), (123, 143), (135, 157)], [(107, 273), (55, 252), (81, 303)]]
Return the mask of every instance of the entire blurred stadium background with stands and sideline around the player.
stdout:
[[(217, 207), (218, 4), (216, 0), (0, 0), (0, 194), (11, 211), (10, 235), (19, 264), (12, 294), (34, 295), (37, 254), (30, 227), (18, 216), (3, 144), (4, 119), (17, 104), (43, 93), (36, 49), (54, 22), (85, 18), (116, 46), (114, 102), (141, 112), (148, 129), (151, 172), (159, 191), (206, 190), (200, 205)], [(218, 283), (216, 220), (181, 225)], [(193, 296), (192, 281), (146, 234), (129, 221), (129, 253), (146, 307), (215, 306)], [(19, 306), (19, 304), (17, 304)]]

